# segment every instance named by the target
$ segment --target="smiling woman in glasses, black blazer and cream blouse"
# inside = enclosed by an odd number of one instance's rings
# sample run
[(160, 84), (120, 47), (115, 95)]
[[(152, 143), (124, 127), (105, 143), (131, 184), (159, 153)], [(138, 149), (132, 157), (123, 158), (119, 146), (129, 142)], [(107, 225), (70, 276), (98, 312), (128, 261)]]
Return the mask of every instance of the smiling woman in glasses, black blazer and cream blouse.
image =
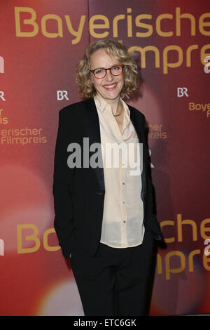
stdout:
[(145, 117), (122, 99), (137, 91), (138, 77), (125, 46), (96, 41), (76, 71), (86, 100), (59, 112), (55, 230), (85, 315), (144, 315), (153, 240), (162, 239)]

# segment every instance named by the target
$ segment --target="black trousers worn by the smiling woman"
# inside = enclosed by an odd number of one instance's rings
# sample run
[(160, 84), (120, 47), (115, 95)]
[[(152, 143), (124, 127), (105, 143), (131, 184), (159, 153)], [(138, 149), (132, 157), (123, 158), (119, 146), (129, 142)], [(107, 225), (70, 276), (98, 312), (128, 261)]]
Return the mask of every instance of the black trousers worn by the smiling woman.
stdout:
[(141, 245), (115, 249), (99, 244), (94, 256), (76, 242), (71, 268), (85, 315), (144, 315), (153, 237)]

